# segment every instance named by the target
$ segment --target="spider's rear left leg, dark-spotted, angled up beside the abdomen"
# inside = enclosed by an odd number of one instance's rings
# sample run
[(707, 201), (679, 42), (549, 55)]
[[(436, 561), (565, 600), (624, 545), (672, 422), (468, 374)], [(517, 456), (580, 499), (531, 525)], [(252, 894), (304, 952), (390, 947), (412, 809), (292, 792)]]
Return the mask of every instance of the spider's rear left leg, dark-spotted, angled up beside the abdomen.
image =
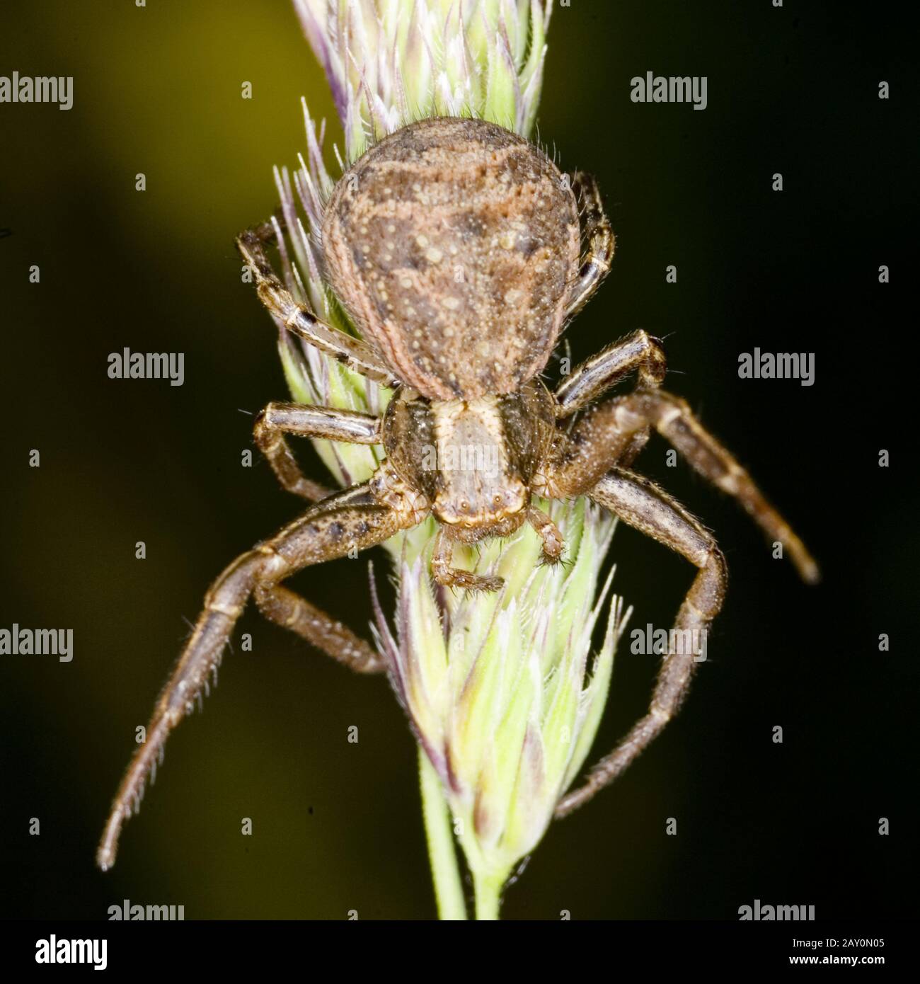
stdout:
[(389, 389), (399, 386), (399, 380), (392, 370), (370, 345), (320, 321), (306, 306), (294, 300), (276, 276), (265, 254), (265, 243), (271, 242), (276, 234), (275, 225), (265, 222), (236, 237), (236, 248), (256, 277), (256, 289), (262, 303), (289, 332), (315, 345), (349, 369), (380, 386)]

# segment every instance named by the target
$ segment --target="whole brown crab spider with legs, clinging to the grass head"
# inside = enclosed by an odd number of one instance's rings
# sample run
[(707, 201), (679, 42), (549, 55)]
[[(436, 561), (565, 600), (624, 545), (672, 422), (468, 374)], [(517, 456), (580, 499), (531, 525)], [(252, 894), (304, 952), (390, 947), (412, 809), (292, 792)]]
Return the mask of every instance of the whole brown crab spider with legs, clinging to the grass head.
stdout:
[[(116, 795), (99, 846), (102, 868), (114, 862), (148, 772), (194, 706), (250, 596), (267, 618), (340, 662), (382, 670), (371, 646), (282, 582), (428, 516), (439, 523), (433, 577), (495, 590), (500, 579), (452, 566), (454, 543), (507, 536), (530, 523), (544, 559), (555, 562), (565, 545), (534, 497), (586, 495), (698, 569), (671, 637), (705, 632), (722, 603), (725, 562), (697, 520), (631, 470), (656, 430), (783, 544), (805, 580), (817, 580), (802, 542), (748, 473), (684, 400), (660, 389), (665, 356), (656, 338), (639, 331), (608, 345), (553, 393), (537, 378), (613, 254), (589, 176), (562, 174), (538, 148), (481, 120), (425, 120), (380, 141), (337, 183), (322, 229), (329, 284), (360, 339), (319, 321), (285, 289), (265, 253), (275, 229), (263, 225), (237, 240), (263, 303), (288, 331), (395, 393), (382, 419), (287, 402), (259, 415), (256, 442), (280, 483), (315, 505), (237, 558), (206, 596)], [(632, 373), (636, 390), (595, 403)], [(285, 434), (382, 445), (386, 460), (370, 481), (329, 494), (301, 474)], [(695, 665), (691, 652), (665, 655), (648, 713), (560, 801), (558, 814), (635, 759), (679, 706)]]

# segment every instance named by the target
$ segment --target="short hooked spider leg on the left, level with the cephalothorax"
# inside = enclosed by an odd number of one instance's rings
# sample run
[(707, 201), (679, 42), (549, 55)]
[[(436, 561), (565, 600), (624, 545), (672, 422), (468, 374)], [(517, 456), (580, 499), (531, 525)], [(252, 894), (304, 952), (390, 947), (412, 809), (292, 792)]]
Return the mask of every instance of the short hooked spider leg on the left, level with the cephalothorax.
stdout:
[(380, 418), (355, 410), (331, 406), (304, 406), (301, 403), (272, 402), (256, 417), (253, 436), (256, 445), (272, 465), (281, 486), (294, 495), (318, 502), (331, 490), (311, 481), (300, 470), (285, 434), (325, 438), (351, 444), (380, 444)]

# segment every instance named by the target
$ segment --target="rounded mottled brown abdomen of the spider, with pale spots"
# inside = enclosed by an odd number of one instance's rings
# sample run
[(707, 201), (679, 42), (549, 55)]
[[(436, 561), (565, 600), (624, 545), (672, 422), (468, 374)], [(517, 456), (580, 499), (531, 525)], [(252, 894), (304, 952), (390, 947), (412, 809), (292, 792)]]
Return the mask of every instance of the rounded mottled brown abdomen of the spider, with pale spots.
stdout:
[(429, 399), (511, 393), (540, 372), (578, 274), (575, 195), (538, 148), (483, 120), (411, 124), (360, 157), (323, 222), (330, 282)]

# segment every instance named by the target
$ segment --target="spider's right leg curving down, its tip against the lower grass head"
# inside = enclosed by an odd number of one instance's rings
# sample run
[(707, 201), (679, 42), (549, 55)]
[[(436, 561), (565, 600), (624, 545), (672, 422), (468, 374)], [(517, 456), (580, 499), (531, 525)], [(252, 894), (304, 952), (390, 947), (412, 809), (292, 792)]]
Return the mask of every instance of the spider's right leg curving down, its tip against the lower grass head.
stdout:
[(590, 770), (581, 788), (559, 801), (557, 817), (565, 817), (612, 782), (677, 712), (696, 667), (694, 653), (700, 651), (686, 641), (699, 639), (699, 634), (705, 639), (709, 624), (722, 606), (727, 578), (725, 559), (714, 539), (681, 505), (647, 478), (625, 468), (614, 468), (588, 496), (624, 523), (677, 551), (699, 568), (699, 574), (677, 613), (648, 713), (633, 725), (610, 755)]

